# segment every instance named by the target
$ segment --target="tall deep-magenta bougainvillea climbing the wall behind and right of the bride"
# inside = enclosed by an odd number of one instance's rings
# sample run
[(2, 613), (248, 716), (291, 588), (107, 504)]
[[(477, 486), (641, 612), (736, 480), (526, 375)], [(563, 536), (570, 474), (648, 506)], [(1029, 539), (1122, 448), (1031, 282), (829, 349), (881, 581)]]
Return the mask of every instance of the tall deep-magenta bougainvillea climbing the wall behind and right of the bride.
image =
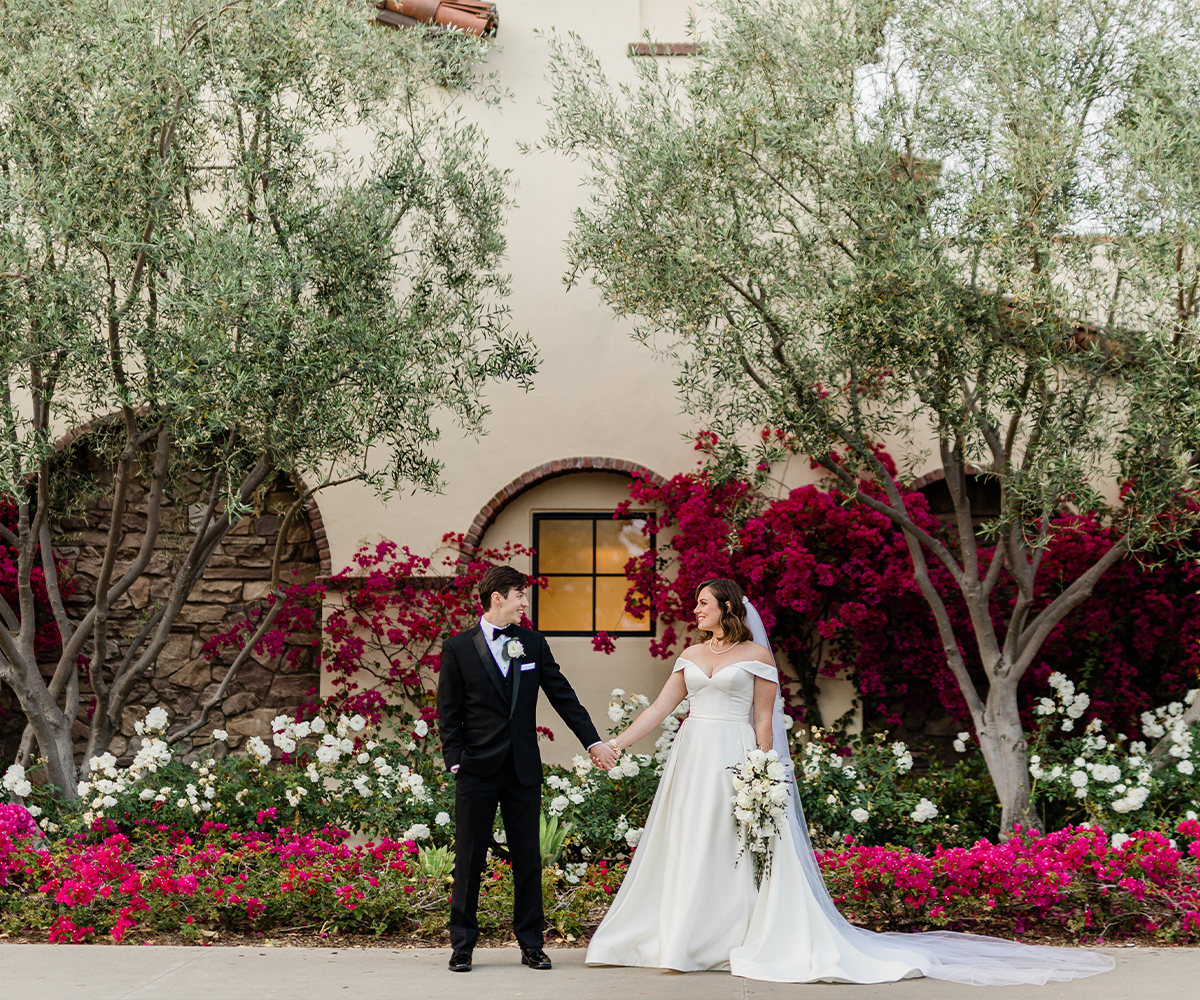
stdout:
[[(878, 487), (863, 483), (862, 489)], [(650, 599), (661, 616), (656, 655), (678, 649), (695, 588), (727, 576), (743, 585), (773, 643), (799, 673), (790, 699), (797, 718), (815, 703), (818, 670), (829, 676), (846, 670), (869, 718), (878, 723), (895, 725), (906, 708), (924, 711), (930, 702), (967, 720), (904, 538), (888, 517), (818, 485), (763, 499), (748, 480), (722, 479), (709, 469), (661, 485), (635, 480), (630, 492), (630, 503), (658, 508), (658, 531), (673, 531), (670, 565), (652, 552), (626, 569), (631, 607), (640, 610)], [(923, 493), (908, 491), (904, 499), (917, 523), (942, 531)], [(1054, 528), (1038, 573), (1034, 613), (1112, 544), (1110, 529), (1093, 514), (1062, 516)], [(990, 555), (984, 546), (980, 556)], [(1051, 633), (1026, 675), (1026, 711), (1058, 670), (1091, 693), (1094, 714), (1135, 733), (1144, 709), (1194, 687), (1200, 673), (1200, 564), (1194, 555), (1177, 546), (1154, 553), (1154, 564), (1129, 557), (1102, 577), (1092, 597)], [(956, 586), (932, 559), (930, 575), (968, 665), (979, 667)], [(1014, 588), (1002, 579), (991, 604), (1001, 637), (1013, 600)]]

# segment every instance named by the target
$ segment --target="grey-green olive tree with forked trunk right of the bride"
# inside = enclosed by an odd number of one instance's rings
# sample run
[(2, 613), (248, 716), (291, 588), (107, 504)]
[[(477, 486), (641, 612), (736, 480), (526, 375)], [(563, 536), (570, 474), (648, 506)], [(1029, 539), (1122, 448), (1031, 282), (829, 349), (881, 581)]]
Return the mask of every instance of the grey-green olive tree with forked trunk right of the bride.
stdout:
[[(1117, 559), (1195, 529), (1194, 5), (718, 0), (700, 41), (613, 86), (578, 40), (552, 40), (541, 148), (582, 161), (592, 192), (568, 280), (590, 276), (678, 359), (727, 461), (758, 449), (769, 467), (778, 437), (758, 431), (779, 429), (904, 529), (1003, 830), (1036, 826), (1018, 684)], [(930, 453), (946, 533), (901, 490)], [(977, 532), (978, 474), (1001, 509)], [(1115, 541), (1038, 604), (1069, 511)]]

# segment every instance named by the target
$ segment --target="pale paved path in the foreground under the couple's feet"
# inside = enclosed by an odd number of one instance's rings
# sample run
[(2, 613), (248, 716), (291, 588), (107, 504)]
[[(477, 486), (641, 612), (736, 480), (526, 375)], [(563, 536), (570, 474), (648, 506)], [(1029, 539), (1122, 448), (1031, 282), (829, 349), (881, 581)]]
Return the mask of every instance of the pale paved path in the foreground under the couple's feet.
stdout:
[(455, 975), (444, 948), (241, 948), (0, 945), (0, 1000), (1196, 1000), (1200, 948), (1114, 948), (1106, 975), (1045, 987), (976, 989), (932, 980), (887, 986), (785, 986), (722, 972), (587, 969), (554, 950), (534, 972), (516, 948), (480, 948)]

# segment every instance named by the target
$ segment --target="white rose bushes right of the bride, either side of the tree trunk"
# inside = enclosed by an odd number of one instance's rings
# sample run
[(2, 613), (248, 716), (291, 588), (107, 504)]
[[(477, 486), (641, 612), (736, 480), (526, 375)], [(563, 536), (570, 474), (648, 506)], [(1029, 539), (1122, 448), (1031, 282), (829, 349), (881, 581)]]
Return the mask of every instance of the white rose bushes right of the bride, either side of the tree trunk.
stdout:
[[(1122, 836), (1170, 836), (1195, 818), (1200, 741), (1184, 713), (1200, 691), (1144, 712), (1141, 732), (1130, 737), (1105, 731), (1099, 718), (1088, 717), (1090, 696), (1063, 675), (1051, 673), (1048, 683), (1054, 696), (1036, 705), (1030, 738), (1032, 801), (1044, 830), (1086, 825)], [(912, 750), (883, 733), (805, 729), (794, 730), (793, 741), (804, 809), (818, 844), (850, 837), (925, 849), (995, 837), (995, 796), (968, 732), (952, 741), (950, 760), (930, 748), (917, 770)]]

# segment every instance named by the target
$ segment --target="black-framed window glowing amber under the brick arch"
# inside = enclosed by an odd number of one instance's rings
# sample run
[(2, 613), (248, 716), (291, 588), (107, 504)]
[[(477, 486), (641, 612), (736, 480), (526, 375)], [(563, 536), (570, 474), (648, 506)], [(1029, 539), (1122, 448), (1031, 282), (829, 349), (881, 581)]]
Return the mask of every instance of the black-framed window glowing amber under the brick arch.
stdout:
[(535, 514), (534, 575), (547, 581), (534, 594), (536, 627), (576, 635), (653, 634), (649, 615), (625, 611), (625, 564), (653, 545), (644, 525), (644, 517), (611, 514)]

